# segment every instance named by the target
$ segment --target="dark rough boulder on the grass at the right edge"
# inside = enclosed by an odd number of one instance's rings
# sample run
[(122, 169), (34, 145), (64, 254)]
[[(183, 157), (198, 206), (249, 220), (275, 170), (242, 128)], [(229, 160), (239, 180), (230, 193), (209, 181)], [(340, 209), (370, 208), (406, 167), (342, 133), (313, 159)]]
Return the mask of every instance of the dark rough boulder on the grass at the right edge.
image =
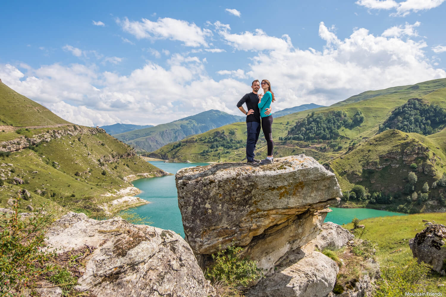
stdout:
[(446, 227), (440, 224), (429, 224), (415, 238), (409, 240), (412, 254), (418, 259), (432, 265), (432, 269), (445, 275), (446, 260)]

